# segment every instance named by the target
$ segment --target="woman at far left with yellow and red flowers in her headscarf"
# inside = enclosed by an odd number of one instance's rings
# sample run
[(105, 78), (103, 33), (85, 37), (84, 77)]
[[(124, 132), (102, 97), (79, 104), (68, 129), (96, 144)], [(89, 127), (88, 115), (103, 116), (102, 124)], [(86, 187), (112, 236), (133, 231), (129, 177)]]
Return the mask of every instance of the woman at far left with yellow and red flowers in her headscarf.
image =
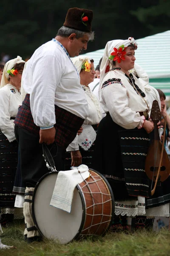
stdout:
[(0, 223), (14, 218), (15, 195), (12, 195), (17, 169), (18, 144), (14, 135), (14, 119), (22, 104), (20, 87), (25, 61), (20, 56), (8, 61), (0, 83)]

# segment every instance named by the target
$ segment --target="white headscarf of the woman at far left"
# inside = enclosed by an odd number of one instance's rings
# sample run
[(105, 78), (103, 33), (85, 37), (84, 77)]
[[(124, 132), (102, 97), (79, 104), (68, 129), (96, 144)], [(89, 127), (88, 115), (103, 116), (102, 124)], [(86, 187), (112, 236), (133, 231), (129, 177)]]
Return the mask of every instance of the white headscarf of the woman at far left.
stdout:
[(25, 63), (25, 61), (23, 61), (20, 56), (17, 56), (17, 58), (14, 58), (14, 59), (6, 62), (5, 66), (3, 68), (3, 76), (1, 79), (1, 83), (0, 83), (0, 88), (2, 88), (3, 86), (5, 86), (6, 84), (9, 83), (9, 80), (8, 80), (9, 74), (7, 73), (7, 71), (11, 70), (15, 66), (15, 64), (20, 63), (20, 62)]

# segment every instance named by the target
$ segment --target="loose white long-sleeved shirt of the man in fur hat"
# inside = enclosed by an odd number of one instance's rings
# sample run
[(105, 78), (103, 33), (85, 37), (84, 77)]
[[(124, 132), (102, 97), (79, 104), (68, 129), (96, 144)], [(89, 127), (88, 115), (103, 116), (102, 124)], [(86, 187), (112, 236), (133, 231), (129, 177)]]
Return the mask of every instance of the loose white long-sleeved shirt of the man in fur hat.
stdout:
[(88, 116), (79, 73), (66, 49), (55, 39), (34, 52), (23, 71), (22, 84), (30, 94), (34, 123), (41, 129), (56, 123), (54, 105), (82, 119)]

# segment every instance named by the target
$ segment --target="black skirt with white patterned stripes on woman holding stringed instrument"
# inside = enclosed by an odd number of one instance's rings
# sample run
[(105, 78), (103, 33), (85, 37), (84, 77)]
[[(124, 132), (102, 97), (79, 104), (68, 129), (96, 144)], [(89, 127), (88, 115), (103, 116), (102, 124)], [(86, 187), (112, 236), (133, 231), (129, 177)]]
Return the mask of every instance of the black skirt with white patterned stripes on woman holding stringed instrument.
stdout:
[[(145, 171), (145, 158), (150, 145), (152, 134), (142, 129), (124, 129), (113, 122), (107, 114), (99, 124), (92, 168), (102, 173), (108, 180), (113, 190), (115, 200), (134, 200), (137, 196), (146, 198), (148, 208), (155, 207), (150, 199), (150, 180)], [(163, 184), (166, 189), (156, 188), (157, 196), (170, 192), (170, 186)], [(154, 197), (154, 196), (153, 196)], [(153, 198), (152, 197), (152, 198)], [(137, 198), (136, 198), (137, 199)], [(163, 201), (163, 199), (162, 199)], [(161, 204), (166, 204), (162, 202)], [(159, 206), (161, 204), (156, 204)]]

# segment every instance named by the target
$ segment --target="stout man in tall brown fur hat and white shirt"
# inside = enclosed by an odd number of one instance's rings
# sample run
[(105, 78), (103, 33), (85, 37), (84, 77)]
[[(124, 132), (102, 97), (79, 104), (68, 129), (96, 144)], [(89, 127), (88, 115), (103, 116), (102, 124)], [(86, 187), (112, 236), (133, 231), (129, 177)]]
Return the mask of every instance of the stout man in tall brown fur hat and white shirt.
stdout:
[[(88, 104), (80, 85), (79, 73), (70, 57), (87, 49), (93, 12), (71, 8), (57, 36), (40, 46), (23, 72), (26, 91), (23, 105), (15, 119), (15, 134), (21, 154), (21, 172), (26, 186), (24, 216), (25, 238), (39, 239), (31, 212), (31, 199), (37, 181), (48, 172), (42, 156), (42, 143), (49, 145), (57, 170), (62, 167), (62, 152), (74, 140), (84, 119)], [(56, 147), (57, 144), (57, 155)]]

